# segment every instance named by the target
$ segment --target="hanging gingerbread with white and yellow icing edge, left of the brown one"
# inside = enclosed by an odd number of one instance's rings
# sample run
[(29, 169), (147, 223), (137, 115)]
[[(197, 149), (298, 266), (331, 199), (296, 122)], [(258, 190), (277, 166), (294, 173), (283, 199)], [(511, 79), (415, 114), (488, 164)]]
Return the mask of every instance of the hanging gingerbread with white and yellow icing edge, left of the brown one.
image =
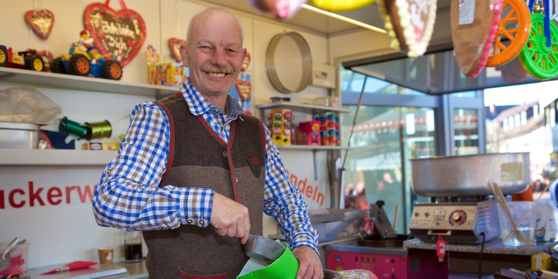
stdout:
[(436, 21), (437, 0), (377, 0), (391, 47), (409, 57), (424, 54)]

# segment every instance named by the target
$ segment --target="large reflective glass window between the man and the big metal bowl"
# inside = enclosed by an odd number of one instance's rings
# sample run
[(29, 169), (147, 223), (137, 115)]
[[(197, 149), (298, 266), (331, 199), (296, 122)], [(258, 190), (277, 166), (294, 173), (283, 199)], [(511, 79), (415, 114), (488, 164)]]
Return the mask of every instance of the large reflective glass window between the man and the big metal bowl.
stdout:
[[(341, 123), (341, 138), (347, 146), (357, 107), (344, 108), (353, 110)], [(345, 208), (362, 208), (383, 200), (386, 214), (393, 220), (398, 204), (397, 230), (406, 233), (403, 229), (410, 222), (412, 205), (428, 199), (411, 191), (409, 159), (436, 155), (434, 110), (363, 105), (358, 116), (350, 141), (354, 149), (348, 151), (345, 162)]]

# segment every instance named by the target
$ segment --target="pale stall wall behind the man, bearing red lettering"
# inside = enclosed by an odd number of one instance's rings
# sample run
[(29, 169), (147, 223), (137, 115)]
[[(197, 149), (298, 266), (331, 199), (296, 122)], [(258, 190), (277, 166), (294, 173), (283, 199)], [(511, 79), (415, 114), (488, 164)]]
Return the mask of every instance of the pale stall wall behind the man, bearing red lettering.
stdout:
[[(0, 44), (13, 47), (15, 51), (34, 47), (37, 50), (49, 50), (54, 56), (68, 51), (69, 44), (78, 40), (79, 32), (84, 29), (83, 11), (94, 1), (85, 0), (42, 0), (42, 8), (49, 9), (55, 15), (55, 23), (48, 40), (42, 40), (27, 27), (23, 15), (32, 8), (30, 0), (0, 0)], [(103, 1), (100, 1), (103, 2)], [(169, 61), (170, 49), (168, 40), (177, 32), (176, 18), (180, 17), (180, 34), (186, 38), (187, 23), (190, 17), (203, 10), (204, 2), (169, 1), (169, 0), (128, 0), (126, 5), (140, 13), (146, 22), (147, 37), (136, 58), (123, 69), (122, 81), (146, 83), (145, 48), (153, 45)], [(119, 10), (116, 0), (110, 7)], [(41, 7), (39, 7), (41, 8)], [(177, 11), (177, 12), (175, 12)], [(264, 55), (267, 44), (276, 34), (287, 29), (269, 20), (247, 13), (233, 11), (244, 26), (244, 46), (252, 54), (252, 62), (247, 73), (252, 75), (252, 104), (267, 103), (272, 96), (285, 96), (278, 93), (267, 79), (264, 67)], [(328, 39), (306, 32), (300, 32), (310, 45), (312, 59), (315, 62), (328, 61)], [(339, 42), (341, 44), (341, 42)], [(0, 84), (0, 89), (10, 88), (11, 84)], [(61, 84), (61, 87), (64, 85)], [(152, 98), (121, 95), (111, 93), (95, 93), (65, 89), (40, 88), (62, 108), (62, 114), (76, 122), (97, 122), (104, 119), (113, 124), (113, 137), (102, 141), (119, 141), (118, 135), (126, 132), (128, 115), (135, 104)], [(288, 95), (292, 102), (311, 102), (315, 97), (323, 97), (328, 90), (309, 86), (303, 92)], [(257, 114), (255, 108), (252, 111)], [(308, 118), (304, 114), (296, 114), (302, 121)], [(50, 126), (43, 127), (56, 131), (56, 119)], [(81, 145), (76, 146), (78, 149)], [(92, 151), (101, 152), (101, 151)], [(0, 155), (1, 156), (1, 155)], [(291, 171), (300, 181), (306, 179), (307, 185), (318, 185), (320, 193), (325, 194), (323, 204), (307, 199), (311, 209), (329, 206), (327, 196), (325, 151), (318, 153), (319, 179), (314, 180), (311, 151), (282, 151), (283, 161), (287, 170)], [(84, 158), (87, 160), (87, 158)], [(108, 163), (108, 162), (107, 162)], [(28, 181), (33, 181), (35, 189), (44, 187), (41, 195), (46, 198), (46, 191), (53, 186), (66, 187), (71, 185), (93, 186), (97, 184), (103, 167), (0, 167), (0, 190), (8, 191), (18, 188), (28, 189)], [(27, 190), (26, 190), (27, 191)], [(73, 193), (75, 195), (75, 193)], [(7, 200), (6, 196), (6, 200)], [(0, 242), (9, 242), (13, 237), (26, 238), (31, 243), (29, 267), (61, 264), (75, 260), (96, 261), (95, 248), (102, 246), (116, 247), (116, 259), (122, 257), (121, 234), (119, 230), (98, 227), (94, 222), (89, 201), (78, 202), (72, 199), (70, 204), (24, 206), (23, 208), (0, 209)], [(74, 202), (75, 201), (75, 202)], [(28, 205), (28, 204), (27, 204)], [(271, 218), (264, 218), (264, 234), (275, 234), (276, 228)], [(55, 251), (55, 252), (53, 252)]]

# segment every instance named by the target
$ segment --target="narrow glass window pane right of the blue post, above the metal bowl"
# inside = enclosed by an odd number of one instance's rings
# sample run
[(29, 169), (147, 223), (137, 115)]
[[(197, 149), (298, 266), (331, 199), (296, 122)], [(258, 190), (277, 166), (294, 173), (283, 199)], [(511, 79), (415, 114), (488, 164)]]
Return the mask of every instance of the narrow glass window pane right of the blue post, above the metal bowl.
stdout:
[(455, 155), (479, 153), (478, 129), (476, 109), (454, 109)]

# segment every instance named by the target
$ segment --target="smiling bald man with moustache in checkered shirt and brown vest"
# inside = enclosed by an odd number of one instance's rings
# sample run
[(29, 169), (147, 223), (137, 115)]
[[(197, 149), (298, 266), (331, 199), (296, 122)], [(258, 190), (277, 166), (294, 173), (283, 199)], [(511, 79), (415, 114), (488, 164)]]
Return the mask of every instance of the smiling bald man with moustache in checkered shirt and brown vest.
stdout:
[(195, 15), (180, 47), (190, 76), (176, 95), (134, 108), (119, 154), (93, 199), (99, 225), (142, 230), (150, 278), (236, 278), (242, 244), (262, 213), (287, 237), (297, 279), (321, 279), (318, 234), (270, 132), (228, 91), (238, 78), (242, 25), (227, 9)]

